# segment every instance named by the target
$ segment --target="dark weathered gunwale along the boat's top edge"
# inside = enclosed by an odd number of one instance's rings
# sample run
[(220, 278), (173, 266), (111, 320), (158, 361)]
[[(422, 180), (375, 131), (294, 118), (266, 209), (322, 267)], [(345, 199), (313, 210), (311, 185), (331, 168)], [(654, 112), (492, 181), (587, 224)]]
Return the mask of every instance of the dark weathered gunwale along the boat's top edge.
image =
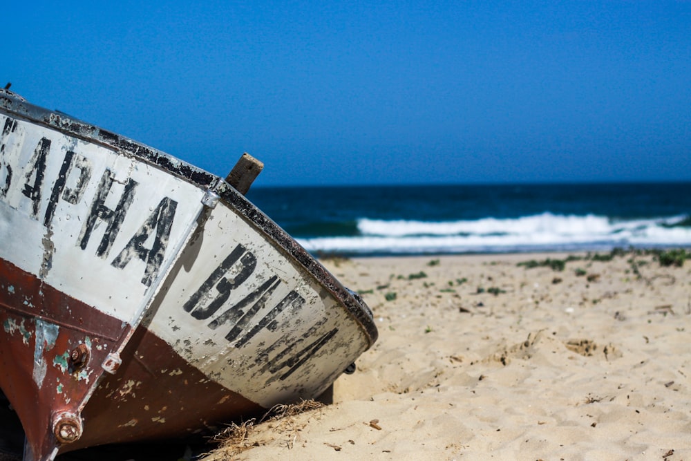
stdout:
[(249, 223), (257, 227), (267, 238), (297, 261), (316, 281), (328, 290), (339, 303), (357, 320), (368, 338), (368, 348), (377, 341), (378, 331), (370, 308), (360, 301), (354, 292), (345, 288), (333, 274), (305, 248), (295, 241), (290, 234), (267, 216), (261, 209), (250, 202), (243, 194), (236, 191), (223, 178), (176, 158), (169, 153), (154, 149), (142, 142), (113, 133), (79, 120), (59, 111), (50, 111), (41, 106), (27, 102), (12, 91), (0, 88), (0, 110), (26, 120), (47, 126), (86, 142), (100, 144), (117, 153), (131, 156), (150, 164), (152, 167), (166, 171), (182, 180), (190, 182), (200, 189), (207, 189), (218, 194), (220, 201), (234, 209)]

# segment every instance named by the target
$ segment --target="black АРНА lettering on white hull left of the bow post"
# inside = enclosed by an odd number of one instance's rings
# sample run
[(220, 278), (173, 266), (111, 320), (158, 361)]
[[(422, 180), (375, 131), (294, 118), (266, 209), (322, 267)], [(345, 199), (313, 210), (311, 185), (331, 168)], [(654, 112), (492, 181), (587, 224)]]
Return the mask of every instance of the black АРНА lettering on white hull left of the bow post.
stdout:
[[(23, 210), (32, 220), (40, 222), (46, 228), (49, 238), (53, 235), (55, 214), (60, 203), (65, 203), (68, 207), (71, 205), (73, 209), (82, 201), (91, 203), (86, 216), (76, 217), (83, 224), (75, 246), (87, 252), (93, 251), (99, 258), (108, 260), (111, 267), (120, 270), (133, 259), (142, 261), (144, 273), (141, 283), (149, 287), (158, 276), (164, 261), (178, 202), (165, 196), (159, 199), (158, 205), (151, 208), (153, 211), (144, 220), (141, 220), (141, 216), (132, 216), (128, 211), (137, 196), (138, 182), (131, 177), (118, 181), (115, 173), (108, 168), (98, 178), (93, 196), (87, 197), (86, 192), (95, 180), (94, 165), (92, 160), (78, 152), (77, 140), (66, 138), (67, 145), (64, 142), (56, 145), (55, 140), (46, 135), (37, 140), (35, 145), (28, 146), (26, 133), (18, 129), (17, 120), (2, 118), (0, 201), (16, 210)], [(32, 153), (22, 164), (21, 152), (27, 147), (32, 147)], [(58, 160), (59, 169), (57, 176), (50, 178), (49, 165), (51, 162), (55, 164), (55, 156), (61, 156)], [(140, 200), (151, 198), (142, 196)], [(108, 205), (113, 202), (115, 206)], [(115, 256), (111, 256), (113, 244), (120, 236), (126, 220), (129, 220), (130, 228), (134, 226), (138, 230), (131, 235), (124, 247), (117, 249)], [(138, 220), (140, 225), (135, 226)], [(102, 232), (98, 237), (95, 237), (96, 229), (101, 229), (99, 232)], [(95, 249), (89, 250), (92, 240), (97, 240), (97, 245)], [(50, 242), (44, 241), (43, 245), (52, 247)], [(46, 276), (49, 269), (50, 265), (44, 264), (41, 276)]]

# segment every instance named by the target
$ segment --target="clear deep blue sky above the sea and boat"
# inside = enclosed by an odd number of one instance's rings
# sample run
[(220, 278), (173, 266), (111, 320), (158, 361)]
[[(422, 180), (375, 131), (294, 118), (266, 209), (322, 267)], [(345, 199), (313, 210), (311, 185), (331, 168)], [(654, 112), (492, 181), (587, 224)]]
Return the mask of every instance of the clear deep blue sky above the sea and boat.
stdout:
[(11, 1), (0, 79), (256, 185), (691, 180), (689, 1)]

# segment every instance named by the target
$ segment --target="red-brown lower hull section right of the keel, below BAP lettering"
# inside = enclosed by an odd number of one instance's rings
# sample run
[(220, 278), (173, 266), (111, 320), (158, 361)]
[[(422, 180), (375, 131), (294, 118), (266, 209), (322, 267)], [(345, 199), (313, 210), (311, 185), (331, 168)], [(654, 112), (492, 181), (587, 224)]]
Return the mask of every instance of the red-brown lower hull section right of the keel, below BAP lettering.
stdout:
[(122, 357), (117, 374), (104, 378), (84, 408), (84, 435), (66, 449), (197, 438), (265, 412), (209, 380), (145, 328), (135, 331)]

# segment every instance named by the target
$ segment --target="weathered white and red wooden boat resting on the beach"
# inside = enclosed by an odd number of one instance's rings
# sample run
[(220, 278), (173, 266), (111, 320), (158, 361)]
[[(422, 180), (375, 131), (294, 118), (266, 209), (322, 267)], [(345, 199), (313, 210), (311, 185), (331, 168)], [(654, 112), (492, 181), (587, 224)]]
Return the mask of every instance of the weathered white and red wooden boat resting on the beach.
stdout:
[(243, 165), (233, 187), (8, 89), (0, 129), (0, 387), (25, 460), (315, 397), (377, 339), (237, 190)]

